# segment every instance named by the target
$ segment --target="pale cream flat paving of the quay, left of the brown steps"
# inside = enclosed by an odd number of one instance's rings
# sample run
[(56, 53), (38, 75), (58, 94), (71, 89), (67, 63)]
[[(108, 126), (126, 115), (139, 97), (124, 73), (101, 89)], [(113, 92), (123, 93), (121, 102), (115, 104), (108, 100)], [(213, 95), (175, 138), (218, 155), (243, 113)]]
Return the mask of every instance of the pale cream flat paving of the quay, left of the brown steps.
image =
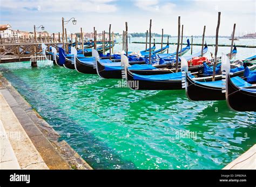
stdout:
[(0, 169), (48, 169), (2, 94), (0, 103)]

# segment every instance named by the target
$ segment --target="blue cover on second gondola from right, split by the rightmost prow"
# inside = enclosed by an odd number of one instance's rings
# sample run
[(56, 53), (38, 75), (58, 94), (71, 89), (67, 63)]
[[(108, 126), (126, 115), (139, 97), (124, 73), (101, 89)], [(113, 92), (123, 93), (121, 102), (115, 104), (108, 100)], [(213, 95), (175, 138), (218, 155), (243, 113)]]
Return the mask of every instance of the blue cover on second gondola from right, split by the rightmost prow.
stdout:
[[(251, 87), (252, 86), (250, 83), (247, 83), (241, 77), (238, 77), (238, 76), (232, 77), (231, 80), (238, 87)], [(196, 83), (201, 84), (201, 85), (210, 86), (210, 87), (216, 87), (216, 88), (223, 87), (223, 85), (222, 85), (223, 81), (222, 80), (220, 80), (220, 81), (210, 81), (210, 82), (196, 81)]]

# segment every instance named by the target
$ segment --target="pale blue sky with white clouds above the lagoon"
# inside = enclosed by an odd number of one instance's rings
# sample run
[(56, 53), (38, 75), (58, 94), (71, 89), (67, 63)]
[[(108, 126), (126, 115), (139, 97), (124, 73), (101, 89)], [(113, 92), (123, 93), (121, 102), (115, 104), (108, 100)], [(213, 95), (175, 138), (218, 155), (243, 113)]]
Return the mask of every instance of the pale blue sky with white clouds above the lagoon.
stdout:
[(10, 24), (13, 29), (33, 31), (33, 25), (44, 25), (49, 32), (62, 32), (62, 17), (68, 20), (68, 33), (103, 30), (122, 33), (125, 22), (128, 32), (146, 32), (150, 19), (154, 33), (177, 35), (178, 16), (184, 25), (184, 35), (215, 35), (218, 12), (221, 12), (219, 35), (231, 35), (233, 24), (237, 24), (235, 35), (256, 30), (255, 0), (0, 0), (0, 24)]

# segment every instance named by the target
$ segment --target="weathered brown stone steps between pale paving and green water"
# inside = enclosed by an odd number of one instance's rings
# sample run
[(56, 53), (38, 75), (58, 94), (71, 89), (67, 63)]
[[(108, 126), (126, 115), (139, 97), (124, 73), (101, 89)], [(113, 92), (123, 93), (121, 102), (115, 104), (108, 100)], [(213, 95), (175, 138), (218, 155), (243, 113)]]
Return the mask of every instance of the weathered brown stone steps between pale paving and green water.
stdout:
[(49, 169), (92, 169), (65, 140), (59, 141), (60, 135), (32, 109), (31, 105), (1, 75), (0, 94), (6, 100)]

